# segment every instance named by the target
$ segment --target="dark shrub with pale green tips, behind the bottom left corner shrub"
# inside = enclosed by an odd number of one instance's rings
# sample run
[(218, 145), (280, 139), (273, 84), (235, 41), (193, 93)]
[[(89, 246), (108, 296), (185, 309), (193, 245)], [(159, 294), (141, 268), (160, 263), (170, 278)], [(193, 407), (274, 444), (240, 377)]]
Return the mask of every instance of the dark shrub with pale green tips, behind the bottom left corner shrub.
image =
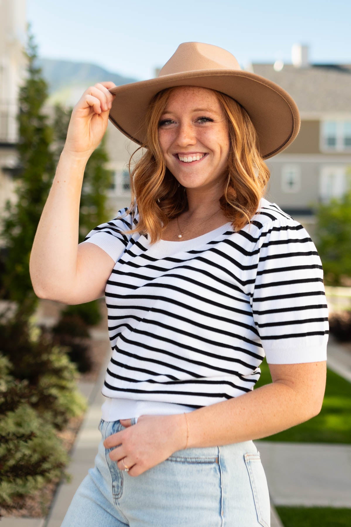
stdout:
[(46, 422), (63, 430), (70, 417), (85, 411), (76, 366), (66, 349), (54, 344), (50, 330), (36, 327), (18, 311), (7, 320), (0, 315), (0, 353), (10, 361), (9, 374), (33, 388), (27, 402)]

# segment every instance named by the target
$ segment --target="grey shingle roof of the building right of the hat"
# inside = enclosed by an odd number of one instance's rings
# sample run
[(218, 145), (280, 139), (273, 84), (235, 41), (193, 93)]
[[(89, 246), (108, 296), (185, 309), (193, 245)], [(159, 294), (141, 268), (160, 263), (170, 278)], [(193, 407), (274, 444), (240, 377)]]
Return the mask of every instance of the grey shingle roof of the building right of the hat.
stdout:
[(296, 102), (300, 112), (351, 112), (351, 64), (251, 63), (245, 68), (279, 84)]

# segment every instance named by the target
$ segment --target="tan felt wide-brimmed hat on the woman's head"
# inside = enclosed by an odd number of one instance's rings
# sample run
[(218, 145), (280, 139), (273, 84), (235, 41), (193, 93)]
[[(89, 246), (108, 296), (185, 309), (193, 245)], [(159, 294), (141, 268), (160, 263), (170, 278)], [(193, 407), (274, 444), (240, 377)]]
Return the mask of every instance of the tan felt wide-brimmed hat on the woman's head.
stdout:
[(278, 84), (243, 71), (229, 51), (212, 44), (183, 42), (155, 79), (110, 88), (116, 97), (109, 119), (128, 138), (142, 144), (141, 128), (152, 97), (172, 86), (202, 86), (238, 101), (255, 126), (262, 157), (288, 147), (300, 129), (300, 114), (292, 97)]

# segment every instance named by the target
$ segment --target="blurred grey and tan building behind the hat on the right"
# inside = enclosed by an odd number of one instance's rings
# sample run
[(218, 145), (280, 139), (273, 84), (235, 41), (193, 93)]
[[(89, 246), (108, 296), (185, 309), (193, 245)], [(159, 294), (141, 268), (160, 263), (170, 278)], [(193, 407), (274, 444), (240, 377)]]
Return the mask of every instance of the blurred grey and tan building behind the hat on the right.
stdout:
[(314, 232), (313, 204), (341, 197), (351, 169), (351, 64), (310, 64), (308, 46), (294, 44), (291, 64), (251, 63), (247, 71), (279, 84), (297, 103), (301, 128), (267, 160), (266, 197)]

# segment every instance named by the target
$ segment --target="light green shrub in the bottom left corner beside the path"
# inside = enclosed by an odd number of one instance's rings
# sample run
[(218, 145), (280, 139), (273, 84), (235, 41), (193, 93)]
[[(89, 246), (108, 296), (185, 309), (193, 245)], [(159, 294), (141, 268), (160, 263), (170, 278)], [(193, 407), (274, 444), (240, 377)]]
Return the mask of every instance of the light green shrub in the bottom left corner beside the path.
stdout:
[(11, 370), (0, 354), (0, 507), (7, 511), (21, 509), (26, 495), (54, 478), (71, 481), (64, 471), (69, 455), (55, 427), (28, 403), (35, 388)]

